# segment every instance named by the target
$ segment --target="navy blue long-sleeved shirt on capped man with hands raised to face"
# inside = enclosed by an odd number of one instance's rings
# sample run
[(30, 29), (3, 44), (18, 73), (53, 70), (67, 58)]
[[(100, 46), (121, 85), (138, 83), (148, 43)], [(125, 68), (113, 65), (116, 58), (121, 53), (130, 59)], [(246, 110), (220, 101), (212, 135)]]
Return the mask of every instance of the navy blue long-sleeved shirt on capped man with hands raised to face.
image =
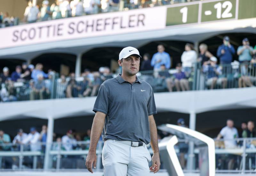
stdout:
[[(221, 50), (224, 49), (225, 53), (221, 54)], [(224, 44), (220, 45), (217, 51), (217, 56), (220, 58), (220, 64), (229, 64), (232, 62), (233, 55), (236, 53), (233, 45), (230, 47), (225, 46)]]

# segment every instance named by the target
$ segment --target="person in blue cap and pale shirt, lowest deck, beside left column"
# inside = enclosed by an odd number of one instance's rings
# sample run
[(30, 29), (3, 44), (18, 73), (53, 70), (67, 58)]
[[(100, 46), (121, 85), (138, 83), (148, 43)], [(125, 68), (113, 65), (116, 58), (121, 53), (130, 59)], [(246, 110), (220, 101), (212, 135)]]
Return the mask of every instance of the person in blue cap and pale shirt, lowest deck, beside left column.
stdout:
[(30, 128), (30, 133), (28, 136), (22, 141), (23, 144), (30, 144), (30, 150), (31, 151), (40, 151), (41, 150), (41, 144), (40, 142), (40, 134), (36, 131), (35, 127)]

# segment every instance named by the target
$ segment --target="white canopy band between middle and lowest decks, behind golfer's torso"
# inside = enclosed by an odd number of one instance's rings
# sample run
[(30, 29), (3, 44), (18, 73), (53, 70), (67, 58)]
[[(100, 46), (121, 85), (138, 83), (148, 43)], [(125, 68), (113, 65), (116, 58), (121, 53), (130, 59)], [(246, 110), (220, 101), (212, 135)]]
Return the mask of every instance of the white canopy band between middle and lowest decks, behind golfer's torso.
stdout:
[[(158, 112), (202, 113), (212, 110), (256, 107), (256, 88), (155, 93)], [(58, 119), (93, 115), (96, 97), (48, 99), (0, 104), (0, 121), (36, 117)]]

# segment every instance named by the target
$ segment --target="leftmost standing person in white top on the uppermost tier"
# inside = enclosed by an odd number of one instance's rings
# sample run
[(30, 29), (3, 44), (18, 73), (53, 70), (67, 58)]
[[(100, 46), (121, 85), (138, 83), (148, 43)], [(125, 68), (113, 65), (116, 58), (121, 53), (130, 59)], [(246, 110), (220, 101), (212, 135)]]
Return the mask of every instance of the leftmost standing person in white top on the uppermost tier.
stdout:
[(28, 23), (36, 22), (38, 13), (38, 7), (33, 6), (32, 2), (28, 1), (28, 6), (26, 7), (24, 13), (24, 21), (27, 21)]

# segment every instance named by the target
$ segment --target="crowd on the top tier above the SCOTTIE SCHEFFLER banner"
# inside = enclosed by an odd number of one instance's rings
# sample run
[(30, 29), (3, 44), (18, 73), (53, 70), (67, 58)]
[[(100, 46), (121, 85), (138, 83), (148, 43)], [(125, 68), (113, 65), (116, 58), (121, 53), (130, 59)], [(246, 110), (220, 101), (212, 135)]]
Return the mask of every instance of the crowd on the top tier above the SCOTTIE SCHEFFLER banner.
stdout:
[[(76, 17), (112, 11), (123, 11), (134, 8), (154, 7), (159, 5), (185, 3), (198, 0), (56, 0), (50, 4), (44, 0), (42, 4), (33, 5), (32, 0), (24, 12), (23, 22), (33, 23), (51, 19)], [(0, 27), (17, 25), (18, 18), (9, 17), (8, 12), (0, 12)]]

